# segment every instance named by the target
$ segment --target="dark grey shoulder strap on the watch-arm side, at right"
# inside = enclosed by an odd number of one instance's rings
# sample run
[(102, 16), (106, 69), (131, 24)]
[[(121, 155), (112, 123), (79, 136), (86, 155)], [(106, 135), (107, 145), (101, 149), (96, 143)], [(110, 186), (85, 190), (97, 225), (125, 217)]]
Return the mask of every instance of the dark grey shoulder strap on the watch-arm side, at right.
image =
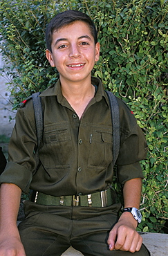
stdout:
[(109, 97), (109, 103), (111, 107), (111, 120), (113, 126), (113, 166), (118, 158), (120, 150), (120, 111), (118, 106), (118, 101), (111, 93), (111, 91), (106, 91)]

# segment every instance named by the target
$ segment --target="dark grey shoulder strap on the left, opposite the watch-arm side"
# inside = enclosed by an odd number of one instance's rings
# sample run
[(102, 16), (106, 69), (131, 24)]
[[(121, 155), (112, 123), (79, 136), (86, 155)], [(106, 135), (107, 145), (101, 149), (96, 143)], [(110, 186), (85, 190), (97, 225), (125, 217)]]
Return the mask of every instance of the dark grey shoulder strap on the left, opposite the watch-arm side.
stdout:
[(39, 164), (39, 145), (43, 134), (43, 111), (41, 106), (41, 98), (39, 97), (40, 92), (32, 94), (32, 102), (35, 111), (35, 123), (37, 132), (37, 150), (35, 153), (37, 166)]

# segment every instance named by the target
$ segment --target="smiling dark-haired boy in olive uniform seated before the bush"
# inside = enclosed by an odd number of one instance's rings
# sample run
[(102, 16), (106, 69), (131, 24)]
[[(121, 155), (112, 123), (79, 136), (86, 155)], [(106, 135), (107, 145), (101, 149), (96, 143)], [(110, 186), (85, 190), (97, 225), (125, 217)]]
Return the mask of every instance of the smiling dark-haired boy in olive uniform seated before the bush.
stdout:
[[(149, 255), (136, 232), (140, 216), (135, 219), (126, 209), (118, 220), (120, 203), (110, 188), (111, 113), (102, 82), (91, 77), (100, 55), (93, 21), (75, 10), (59, 13), (48, 24), (46, 45), (59, 80), (40, 95), (44, 134), (37, 171), (32, 100), (17, 113), (10, 162), (1, 176), (0, 255), (62, 255), (69, 246), (84, 255)], [(124, 207), (136, 210), (143, 177), (139, 161), (147, 145), (129, 109), (121, 100), (118, 104), (118, 178), (124, 185)], [(36, 192), (35, 202), (26, 201), (26, 219), (18, 231), (21, 190), (29, 188)]]

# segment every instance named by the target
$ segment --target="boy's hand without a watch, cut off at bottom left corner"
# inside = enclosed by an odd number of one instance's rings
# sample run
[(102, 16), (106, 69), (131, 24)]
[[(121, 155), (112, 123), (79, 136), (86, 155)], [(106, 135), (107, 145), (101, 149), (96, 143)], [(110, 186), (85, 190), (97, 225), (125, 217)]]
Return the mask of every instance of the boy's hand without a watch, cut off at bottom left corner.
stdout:
[(16, 237), (3, 237), (0, 239), (1, 256), (26, 256), (21, 240)]

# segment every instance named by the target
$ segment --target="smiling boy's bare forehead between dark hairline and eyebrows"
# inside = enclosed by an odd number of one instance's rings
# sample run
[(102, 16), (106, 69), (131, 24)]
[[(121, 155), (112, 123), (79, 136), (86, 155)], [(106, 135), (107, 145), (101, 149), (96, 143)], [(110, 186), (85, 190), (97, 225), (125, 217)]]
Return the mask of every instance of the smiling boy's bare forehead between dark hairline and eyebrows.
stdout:
[(89, 25), (84, 21), (74, 21), (71, 24), (65, 25), (62, 28), (53, 31), (53, 37), (62, 35), (66, 35), (68, 37), (79, 35), (80, 37), (85, 34), (93, 38)]

